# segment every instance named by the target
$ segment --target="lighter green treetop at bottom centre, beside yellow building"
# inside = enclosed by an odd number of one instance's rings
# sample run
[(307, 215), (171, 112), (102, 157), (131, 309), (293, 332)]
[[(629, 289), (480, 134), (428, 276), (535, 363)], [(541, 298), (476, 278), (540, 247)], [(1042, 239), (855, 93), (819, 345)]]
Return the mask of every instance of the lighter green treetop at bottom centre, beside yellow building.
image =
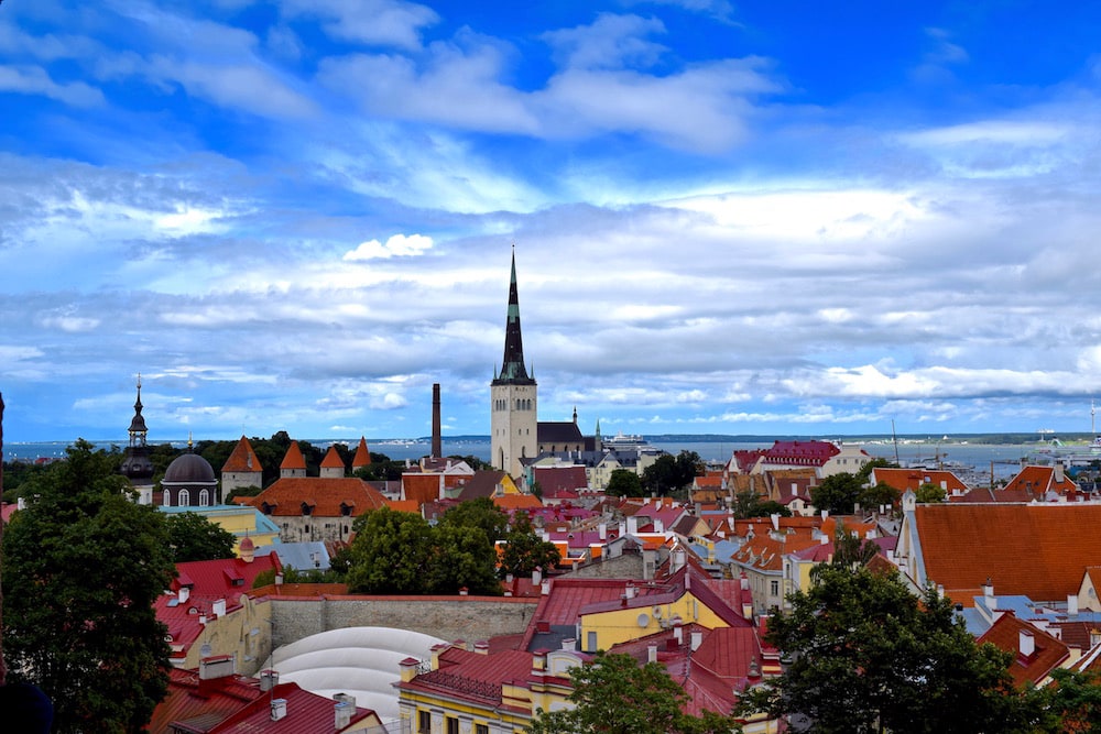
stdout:
[(533, 734), (718, 734), (741, 731), (731, 716), (696, 717), (682, 711), (688, 695), (657, 662), (597, 653), (570, 670), (568, 711), (539, 711)]

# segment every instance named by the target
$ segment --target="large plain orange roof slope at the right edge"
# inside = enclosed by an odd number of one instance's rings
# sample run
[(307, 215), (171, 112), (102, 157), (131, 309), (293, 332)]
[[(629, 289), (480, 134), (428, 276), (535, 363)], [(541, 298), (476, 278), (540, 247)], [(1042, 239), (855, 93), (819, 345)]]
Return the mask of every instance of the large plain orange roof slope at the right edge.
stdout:
[(952, 591), (988, 578), (999, 594), (1061, 601), (1101, 558), (1101, 504), (917, 505), (926, 578)]

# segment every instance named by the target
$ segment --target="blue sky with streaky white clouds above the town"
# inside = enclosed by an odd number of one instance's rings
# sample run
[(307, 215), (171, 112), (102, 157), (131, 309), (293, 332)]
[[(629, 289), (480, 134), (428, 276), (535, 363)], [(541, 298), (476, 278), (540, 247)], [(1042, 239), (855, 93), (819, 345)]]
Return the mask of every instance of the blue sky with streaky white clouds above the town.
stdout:
[(1101, 10), (7, 0), (6, 438), (1090, 430)]

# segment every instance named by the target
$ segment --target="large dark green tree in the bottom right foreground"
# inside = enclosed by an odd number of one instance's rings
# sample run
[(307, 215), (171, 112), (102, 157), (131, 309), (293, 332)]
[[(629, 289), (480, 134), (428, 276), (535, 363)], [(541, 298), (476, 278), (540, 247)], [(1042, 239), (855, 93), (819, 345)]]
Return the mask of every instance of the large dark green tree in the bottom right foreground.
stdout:
[[(1031, 731), (1036, 711), (1007, 672), (1012, 655), (977, 646), (948, 599), (919, 599), (896, 573), (824, 567), (818, 583), (773, 610), (768, 643), (783, 675), (737, 713), (788, 716), (822, 733)], [(809, 726), (809, 730), (807, 728)]]

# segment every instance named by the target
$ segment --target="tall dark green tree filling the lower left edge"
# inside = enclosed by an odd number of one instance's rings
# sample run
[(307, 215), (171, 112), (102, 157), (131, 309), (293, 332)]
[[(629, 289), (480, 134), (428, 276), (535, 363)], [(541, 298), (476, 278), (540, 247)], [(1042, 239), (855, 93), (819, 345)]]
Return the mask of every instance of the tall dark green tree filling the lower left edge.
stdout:
[(167, 690), (153, 602), (175, 574), (168, 534), (116, 468), (78, 440), (3, 535), (9, 680), (53, 699), (55, 732), (139, 732)]

